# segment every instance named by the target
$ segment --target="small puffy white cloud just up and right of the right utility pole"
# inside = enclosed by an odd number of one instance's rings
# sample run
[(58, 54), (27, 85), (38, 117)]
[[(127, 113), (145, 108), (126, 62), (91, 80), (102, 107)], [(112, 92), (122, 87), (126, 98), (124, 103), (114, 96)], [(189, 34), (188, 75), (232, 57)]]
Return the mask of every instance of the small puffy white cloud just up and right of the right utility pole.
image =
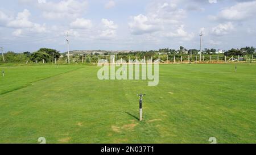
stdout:
[(231, 22), (225, 24), (218, 24), (218, 26), (212, 28), (213, 35), (226, 35), (230, 31), (234, 30), (234, 26)]

